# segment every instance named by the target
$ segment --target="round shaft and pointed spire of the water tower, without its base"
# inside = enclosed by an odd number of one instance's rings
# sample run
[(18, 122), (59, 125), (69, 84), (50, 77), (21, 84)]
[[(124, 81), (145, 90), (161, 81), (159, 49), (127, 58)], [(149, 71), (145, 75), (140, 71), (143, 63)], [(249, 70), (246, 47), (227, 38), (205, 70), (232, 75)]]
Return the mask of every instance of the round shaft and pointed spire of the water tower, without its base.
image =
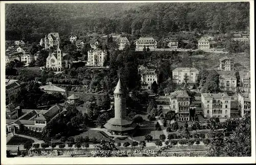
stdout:
[(126, 117), (126, 90), (123, 87), (122, 81), (118, 80), (114, 91), (115, 102), (115, 119), (120, 120)]

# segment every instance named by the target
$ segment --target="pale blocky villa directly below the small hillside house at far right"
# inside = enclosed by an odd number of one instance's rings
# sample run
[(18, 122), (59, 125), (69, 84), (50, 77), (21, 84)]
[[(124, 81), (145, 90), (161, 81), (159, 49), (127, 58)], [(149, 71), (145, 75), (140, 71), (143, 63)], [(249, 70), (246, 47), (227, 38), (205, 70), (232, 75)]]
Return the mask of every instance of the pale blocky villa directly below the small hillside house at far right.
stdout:
[(219, 87), (222, 91), (237, 92), (237, 78), (231, 75), (220, 75)]

